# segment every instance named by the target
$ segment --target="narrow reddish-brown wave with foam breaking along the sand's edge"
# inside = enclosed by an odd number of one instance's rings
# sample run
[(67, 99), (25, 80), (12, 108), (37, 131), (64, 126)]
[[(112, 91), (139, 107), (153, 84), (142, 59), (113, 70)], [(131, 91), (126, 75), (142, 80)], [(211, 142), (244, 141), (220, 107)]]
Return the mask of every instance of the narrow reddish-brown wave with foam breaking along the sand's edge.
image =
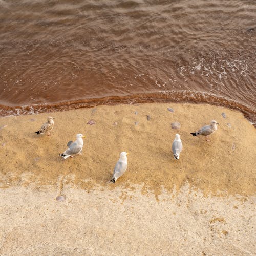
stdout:
[(92, 108), (98, 105), (135, 104), (135, 103), (196, 103), (224, 106), (238, 110), (256, 125), (256, 112), (248, 106), (222, 96), (196, 91), (161, 91), (157, 93), (137, 93), (125, 96), (106, 96), (101, 98), (78, 99), (49, 104), (7, 106), (0, 104), (0, 116), (20, 116), (45, 112), (64, 111), (79, 108)]

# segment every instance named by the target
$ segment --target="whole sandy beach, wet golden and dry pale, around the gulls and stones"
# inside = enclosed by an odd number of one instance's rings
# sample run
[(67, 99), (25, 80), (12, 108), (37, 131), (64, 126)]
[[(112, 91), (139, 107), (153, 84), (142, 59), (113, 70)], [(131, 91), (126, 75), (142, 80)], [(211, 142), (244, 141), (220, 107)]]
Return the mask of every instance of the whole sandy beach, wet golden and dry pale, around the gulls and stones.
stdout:
[[(56, 117), (52, 135), (33, 134), (49, 115)], [(212, 119), (220, 125), (209, 142), (190, 135)], [(58, 154), (77, 133), (87, 137), (83, 155), (62, 161)], [(121, 151), (130, 152), (127, 172), (109, 184)], [(253, 255), (255, 156), (254, 127), (241, 113), (211, 105), (1, 118), (0, 254)]]

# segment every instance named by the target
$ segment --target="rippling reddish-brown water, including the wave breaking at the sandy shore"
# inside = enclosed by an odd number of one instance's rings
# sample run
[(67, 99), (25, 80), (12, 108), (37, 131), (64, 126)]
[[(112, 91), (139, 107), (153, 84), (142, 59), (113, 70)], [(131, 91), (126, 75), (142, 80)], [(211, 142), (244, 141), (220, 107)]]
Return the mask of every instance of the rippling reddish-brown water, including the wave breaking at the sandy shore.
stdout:
[(254, 0), (0, 0), (0, 115), (126, 102), (256, 122)]

